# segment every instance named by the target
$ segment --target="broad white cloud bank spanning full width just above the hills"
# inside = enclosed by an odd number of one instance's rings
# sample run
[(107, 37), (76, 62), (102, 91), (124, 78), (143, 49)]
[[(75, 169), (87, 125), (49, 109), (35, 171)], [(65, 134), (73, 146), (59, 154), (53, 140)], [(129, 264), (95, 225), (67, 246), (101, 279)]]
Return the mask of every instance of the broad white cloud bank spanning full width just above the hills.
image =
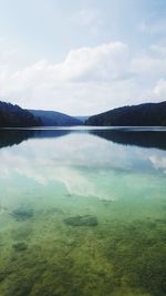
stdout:
[(166, 58), (152, 49), (135, 57), (127, 44), (110, 42), (71, 50), (60, 63), (20, 57), (0, 51), (0, 98), (24, 108), (94, 114), (165, 99)]

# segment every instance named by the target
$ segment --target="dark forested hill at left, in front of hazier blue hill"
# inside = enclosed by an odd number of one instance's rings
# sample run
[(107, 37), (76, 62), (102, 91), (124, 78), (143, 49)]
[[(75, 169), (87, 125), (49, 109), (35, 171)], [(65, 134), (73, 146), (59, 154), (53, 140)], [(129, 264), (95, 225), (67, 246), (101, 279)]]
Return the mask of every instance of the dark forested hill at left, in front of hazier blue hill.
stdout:
[(40, 119), (19, 105), (0, 101), (0, 127), (27, 127), (42, 125)]

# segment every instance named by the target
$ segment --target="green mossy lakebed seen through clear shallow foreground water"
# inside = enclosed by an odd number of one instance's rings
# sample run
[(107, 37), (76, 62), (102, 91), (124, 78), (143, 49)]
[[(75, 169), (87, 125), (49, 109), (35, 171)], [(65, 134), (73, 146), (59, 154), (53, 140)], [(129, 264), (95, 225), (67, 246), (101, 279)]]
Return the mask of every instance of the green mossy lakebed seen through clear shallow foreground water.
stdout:
[[(103, 216), (98, 223), (97, 216), (64, 218), (59, 212), (33, 213), (29, 243), (18, 236), (20, 241), (10, 242), (8, 259), (0, 253), (1, 296), (166, 295), (164, 218)], [(23, 227), (27, 232), (25, 224), (17, 227), (18, 235)]]

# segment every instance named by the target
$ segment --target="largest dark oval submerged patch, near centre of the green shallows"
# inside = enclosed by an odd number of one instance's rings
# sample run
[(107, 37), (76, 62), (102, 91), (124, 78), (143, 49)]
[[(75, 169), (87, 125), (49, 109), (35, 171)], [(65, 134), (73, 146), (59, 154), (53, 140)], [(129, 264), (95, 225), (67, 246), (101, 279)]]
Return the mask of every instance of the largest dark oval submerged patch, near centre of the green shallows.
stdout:
[(70, 226), (97, 226), (98, 224), (97, 218), (90, 215), (68, 217), (64, 223)]

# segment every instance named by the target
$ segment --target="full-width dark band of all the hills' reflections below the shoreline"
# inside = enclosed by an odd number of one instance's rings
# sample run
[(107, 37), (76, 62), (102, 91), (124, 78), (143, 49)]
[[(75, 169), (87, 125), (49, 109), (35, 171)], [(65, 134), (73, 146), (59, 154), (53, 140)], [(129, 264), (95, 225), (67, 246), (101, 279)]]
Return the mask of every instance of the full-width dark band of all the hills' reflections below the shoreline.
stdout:
[(59, 137), (70, 133), (90, 133), (117, 144), (166, 150), (166, 131), (153, 129), (103, 129), (103, 130), (0, 130), (0, 149), (20, 144), (28, 139)]

